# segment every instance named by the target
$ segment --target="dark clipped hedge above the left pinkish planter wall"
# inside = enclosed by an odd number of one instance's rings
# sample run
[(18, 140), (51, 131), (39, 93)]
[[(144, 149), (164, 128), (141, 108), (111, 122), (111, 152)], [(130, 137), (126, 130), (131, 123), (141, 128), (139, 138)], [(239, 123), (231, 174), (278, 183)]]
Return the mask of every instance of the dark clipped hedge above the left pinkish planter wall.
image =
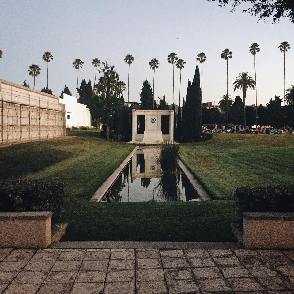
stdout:
[(63, 183), (9, 179), (0, 181), (0, 211), (52, 211), (58, 217), (64, 198)]

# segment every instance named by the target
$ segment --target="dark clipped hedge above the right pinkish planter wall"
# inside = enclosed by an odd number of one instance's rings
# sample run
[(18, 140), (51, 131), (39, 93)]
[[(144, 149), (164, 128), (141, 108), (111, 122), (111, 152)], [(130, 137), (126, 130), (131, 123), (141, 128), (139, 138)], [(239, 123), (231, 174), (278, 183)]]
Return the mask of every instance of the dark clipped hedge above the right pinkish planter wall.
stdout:
[(234, 196), (241, 212), (294, 212), (294, 185), (239, 187)]

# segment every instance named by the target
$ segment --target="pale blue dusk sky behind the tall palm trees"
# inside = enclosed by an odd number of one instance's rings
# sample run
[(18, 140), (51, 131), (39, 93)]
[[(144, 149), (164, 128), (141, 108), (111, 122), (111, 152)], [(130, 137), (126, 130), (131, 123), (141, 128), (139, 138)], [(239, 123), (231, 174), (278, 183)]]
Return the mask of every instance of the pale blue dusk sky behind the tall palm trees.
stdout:
[[(171, 52), (186, 62), (182, 70), (181, 104), (186, 98), (188, 80), (193, 80), (200, 52), (207, 59), (203, 66), (202, 102), (217, 104), (226, 94), (227, 63), (220, 58), (228, 48), (228, 94), (234, 100), (242, 92), (234, 92), (232, 83), (239, 73), (247, 71), (254, 78), (254, 55), (249, 46), (258, 43), (256, 55), (257, 103), (266, 104), (270, 98), (284, 96), (284, 54), (278, 46), (287, 41), (291, 49), (286, 52), (286, 89), (294, 85), (294, 24), (287, 18), (272, 25), (258, 22), (258, 17), (242, 13), (247, 6), (220, 8), (218, 1), (207, 0), (0, 0), (0, 78), (22, 84), (26, 80), (33, 87), (28, 68), (37, 64), (41, 68), (35, 89), (47, 86), (47, 62), (42, 59), (50, 51), (49, 89), (59, 96), (67, 85), (75, 96), (76, 58), (84, 62), (79, 70), (82, 79), (92, 84), (95, 68), (92, 59), (107, 60), (115, 66), (120, 79), (128, 82), (127, 54), (134, 57), (130, 65), (129, 101), (140, 102), (145, 79), (153, 86), (153, 70), (149, 61), (158, 59), (155, 70), (154, 96), (165, 95), (173, 102), (172, 65), (167, 58)], [(180, 70), (174, 68), (175, 103), (179, 102)], [(99, 73), (97, 72), (97, 79)], [(127, 90), (124, 93), (127, 100)], [(246, 105), (255, 104), (255, 91), (248, 90)]]

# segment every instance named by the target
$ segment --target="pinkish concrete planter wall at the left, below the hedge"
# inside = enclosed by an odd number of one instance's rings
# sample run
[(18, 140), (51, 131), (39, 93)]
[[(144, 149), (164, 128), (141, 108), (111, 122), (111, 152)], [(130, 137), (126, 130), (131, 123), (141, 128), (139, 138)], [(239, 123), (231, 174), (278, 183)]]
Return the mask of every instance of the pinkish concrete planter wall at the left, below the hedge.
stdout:
[(45, 248), (51, 243), (51, 211), (0, 212), (0, 247)]

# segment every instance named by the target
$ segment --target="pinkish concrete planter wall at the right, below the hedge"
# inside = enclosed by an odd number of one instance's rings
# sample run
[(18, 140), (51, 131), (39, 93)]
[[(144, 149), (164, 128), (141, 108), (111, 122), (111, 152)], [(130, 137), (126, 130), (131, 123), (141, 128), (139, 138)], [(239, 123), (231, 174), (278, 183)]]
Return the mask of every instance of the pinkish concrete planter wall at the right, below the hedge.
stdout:
[(246, 248), (294, 248), (294, 213), (244, 212), (243, 244)]

